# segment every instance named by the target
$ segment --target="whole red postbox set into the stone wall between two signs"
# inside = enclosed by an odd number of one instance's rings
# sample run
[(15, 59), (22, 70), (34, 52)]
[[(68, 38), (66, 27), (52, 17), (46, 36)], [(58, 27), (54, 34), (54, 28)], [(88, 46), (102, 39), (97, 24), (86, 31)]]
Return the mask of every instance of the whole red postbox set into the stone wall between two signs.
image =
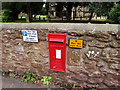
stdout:
[(66, 35), (48, 34), (50, 70), (66, 71)]

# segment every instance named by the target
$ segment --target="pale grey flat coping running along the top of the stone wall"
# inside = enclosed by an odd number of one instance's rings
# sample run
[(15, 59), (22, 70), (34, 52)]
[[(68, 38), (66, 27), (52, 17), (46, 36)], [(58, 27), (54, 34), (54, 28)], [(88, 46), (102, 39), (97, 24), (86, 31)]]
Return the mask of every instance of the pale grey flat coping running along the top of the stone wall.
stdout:
[(114, 31), (118, 32), (119, 24), (91, 24), (91, 23), (0, 23), (2, 28), (19, 29), (48, 29), (48, 30), (89, 30), (89, 31)]

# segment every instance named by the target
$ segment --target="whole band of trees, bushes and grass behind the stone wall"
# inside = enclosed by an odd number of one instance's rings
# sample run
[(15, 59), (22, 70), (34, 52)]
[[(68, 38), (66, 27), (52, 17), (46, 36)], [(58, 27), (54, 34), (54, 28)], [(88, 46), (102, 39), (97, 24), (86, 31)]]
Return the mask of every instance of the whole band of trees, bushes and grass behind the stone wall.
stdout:
[[(43, 7), (43, 5), (46, 5)], [(66, 7), (66, 19), (71, 21), (71, 11), (73, 7), (82, 6), (89, 7), (90, 16), (88, 19), (82, 18), (85, 21), (109, 21), (110, 23), (120, 23), (120, 3), (117, 2), (3, 2), (2, 3), (2, 22), (26, 22), (25, 16), (18, 16), (20, 12), (28, 15), (28, 22), (35, 22), (35, 20), (49, 20), (48, 9), (52, 5), (56, 6), (57, 16), (62, 17), (62, 10)], [(50, 6), (51, 5), (51, 6)], [(93, 13), (98, 17), (106, 16), (106, 19), (92, 19)], [(80, 20), (80, 19), (79, 19)]]

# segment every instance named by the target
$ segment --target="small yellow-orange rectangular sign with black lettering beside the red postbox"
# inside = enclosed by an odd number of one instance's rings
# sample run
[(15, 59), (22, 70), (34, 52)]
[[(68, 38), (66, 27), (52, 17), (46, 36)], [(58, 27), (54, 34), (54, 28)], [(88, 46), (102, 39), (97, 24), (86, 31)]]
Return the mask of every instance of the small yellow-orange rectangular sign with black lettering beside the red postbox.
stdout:
[(83, 48), (83, 40), (80, 39), (70, 39), (69, 47), (73, 48)]

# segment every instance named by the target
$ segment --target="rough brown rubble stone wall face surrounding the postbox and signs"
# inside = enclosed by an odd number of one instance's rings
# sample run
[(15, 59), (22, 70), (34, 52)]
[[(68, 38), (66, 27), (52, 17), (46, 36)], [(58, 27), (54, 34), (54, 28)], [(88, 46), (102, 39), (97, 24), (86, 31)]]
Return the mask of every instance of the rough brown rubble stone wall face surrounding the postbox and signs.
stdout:
[[(3, 71), (23, 74), (30, 70), (40, 77), (49, 75), (55, 81), (80, 87), (120, 86), (120, 40), (116, 30), (100, 31), (97, 28), (67, 30), (62, 26), (63, 29), (28, 28), (28, 25), (9, 24), (9, 27), (3, 25), (1, 39)], [(37, 30), (39, 42), (23, 42), (21, 30)], [(77, 38), (84, 41), (82, 49), (69, 48), (68, 42), (66, 43), (67, 71), (64, 73), (49, 70), (48, 33), (66, 34), (67, 39)]]

